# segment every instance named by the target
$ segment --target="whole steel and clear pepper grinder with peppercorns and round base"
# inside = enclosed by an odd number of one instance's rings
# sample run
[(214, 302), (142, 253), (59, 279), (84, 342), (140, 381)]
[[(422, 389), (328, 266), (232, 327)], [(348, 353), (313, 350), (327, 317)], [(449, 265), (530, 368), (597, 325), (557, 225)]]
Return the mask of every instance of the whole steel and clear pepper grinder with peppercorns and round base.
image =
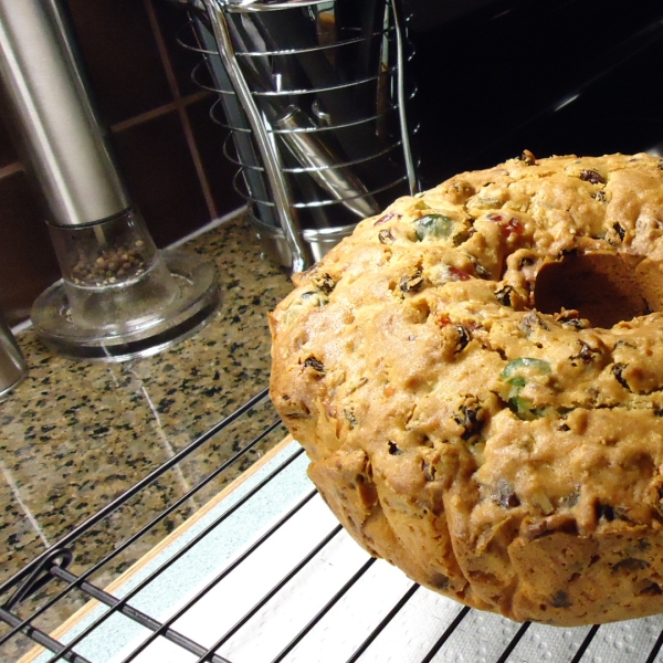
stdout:
[(154, 355), (218, 311), (215, 267), (156, 248), (109, 154), (57, 2), (25, 0), (21, 12), (12, 4), (0, 0), (0, 74), (62, 271), (34, 302), (32, 323), (73, 359)]

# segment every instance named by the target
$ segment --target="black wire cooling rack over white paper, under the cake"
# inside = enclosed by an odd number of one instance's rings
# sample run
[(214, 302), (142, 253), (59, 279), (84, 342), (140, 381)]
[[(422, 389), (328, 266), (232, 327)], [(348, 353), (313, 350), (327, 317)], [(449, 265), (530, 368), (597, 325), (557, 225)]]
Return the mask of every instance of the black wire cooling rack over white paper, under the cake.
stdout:
[[(2, 661), (663, 661), (663, 615), (576, 629), (518, 624), (412, 583), (341, 529), (308, 483), (306, 459), (294, 442), (197, 528), (167, 539), (149, 564), (138, 565), (140, 572), (110, 586), (96, 580), (267, 436), (282, 435), (277, 419), (110, 551), (72, 564), (78, 541), (266, 399), (261, 391), (7, 581), (0, 588)], [(190, 576), (192, 568), (198, 575)], [(53, 628), (46, 615), (62, 604), (70, 620)]]

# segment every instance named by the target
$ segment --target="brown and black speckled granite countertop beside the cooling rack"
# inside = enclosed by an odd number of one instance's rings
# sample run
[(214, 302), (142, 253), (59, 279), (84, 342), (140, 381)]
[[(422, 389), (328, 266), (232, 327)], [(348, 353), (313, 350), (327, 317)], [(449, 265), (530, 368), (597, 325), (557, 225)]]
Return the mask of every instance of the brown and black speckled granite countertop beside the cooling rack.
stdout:
[[(192, 338), (154, 357), (91, 364), (50, 354), (31, 329), (18, 335), (29, 376), (0, 402), (0, 580), (267, 386), (266, 313), (292, 287), (286, 272), (261, 254), (241, 214), (183, 249), (217, 262), (223, 292), (219, 313)], [(265, 399), (92, 528), (74, 566), (113, 549), (275, 419)], [(97, 581), (126, 569), (284, 435), (276, 429)]]

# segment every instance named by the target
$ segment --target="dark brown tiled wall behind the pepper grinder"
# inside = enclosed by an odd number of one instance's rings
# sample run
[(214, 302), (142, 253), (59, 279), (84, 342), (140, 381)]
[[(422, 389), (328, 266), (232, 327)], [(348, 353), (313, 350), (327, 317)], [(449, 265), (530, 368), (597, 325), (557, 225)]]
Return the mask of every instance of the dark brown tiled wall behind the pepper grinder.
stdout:
[[(209, 118), (213, 94), (190, 78), (199, 55), (176, 41), (186, 14), (167, 0), (66, 0), (65, 8), (117, 164), (157, 245), (239, 208), (224, 131)], [(0, 311), (10, 325), (60, 277), (45, 214), (0, 122)]]

